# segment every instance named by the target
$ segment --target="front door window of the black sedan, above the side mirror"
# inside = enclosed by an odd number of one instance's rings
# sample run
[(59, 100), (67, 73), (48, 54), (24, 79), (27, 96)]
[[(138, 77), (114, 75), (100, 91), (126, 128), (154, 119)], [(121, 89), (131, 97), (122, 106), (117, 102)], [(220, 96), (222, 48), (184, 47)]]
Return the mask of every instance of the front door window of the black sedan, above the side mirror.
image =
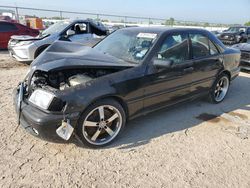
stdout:
[(157, 53), (157, 59), (171, 60), (175, 64), (188, 60), (188, 36), (186, 34), (168, 36)]

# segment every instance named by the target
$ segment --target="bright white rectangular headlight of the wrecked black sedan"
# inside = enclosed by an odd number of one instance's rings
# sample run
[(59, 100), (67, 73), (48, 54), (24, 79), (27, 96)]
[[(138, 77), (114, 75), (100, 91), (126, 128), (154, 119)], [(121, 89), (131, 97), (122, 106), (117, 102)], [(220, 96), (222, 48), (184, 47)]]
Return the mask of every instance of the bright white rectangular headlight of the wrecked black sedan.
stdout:
[(54, 99), (54, 95), (41, 90), (37, 89), (35, 90), (32, 95), (29, 98), (29, 101), (32, 102), (33, 104), (47, 110), (49, 108), (49, 105), (51, 104), (52, 100)]

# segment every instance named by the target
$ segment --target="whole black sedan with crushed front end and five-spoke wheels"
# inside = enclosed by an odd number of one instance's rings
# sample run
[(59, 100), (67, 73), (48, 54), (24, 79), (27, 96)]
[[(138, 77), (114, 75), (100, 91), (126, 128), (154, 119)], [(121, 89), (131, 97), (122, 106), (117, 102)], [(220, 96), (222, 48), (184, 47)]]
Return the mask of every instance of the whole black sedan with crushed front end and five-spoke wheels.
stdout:
[(14, 91), (18, 122), (44, 139), (113, 141), (129, 119), (201, 96), (225, 98), (240, 51), (200, 29), (125, 28), (93, 48), (56, 42)]

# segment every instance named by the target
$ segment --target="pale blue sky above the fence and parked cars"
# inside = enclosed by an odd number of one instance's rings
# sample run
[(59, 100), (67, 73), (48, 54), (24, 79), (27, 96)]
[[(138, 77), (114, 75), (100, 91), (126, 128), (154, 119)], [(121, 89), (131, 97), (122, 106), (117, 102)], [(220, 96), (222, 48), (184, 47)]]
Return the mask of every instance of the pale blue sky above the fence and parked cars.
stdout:
[(250, 0), (0, 0), (0, 5), (213, 23), (250, 21)]

